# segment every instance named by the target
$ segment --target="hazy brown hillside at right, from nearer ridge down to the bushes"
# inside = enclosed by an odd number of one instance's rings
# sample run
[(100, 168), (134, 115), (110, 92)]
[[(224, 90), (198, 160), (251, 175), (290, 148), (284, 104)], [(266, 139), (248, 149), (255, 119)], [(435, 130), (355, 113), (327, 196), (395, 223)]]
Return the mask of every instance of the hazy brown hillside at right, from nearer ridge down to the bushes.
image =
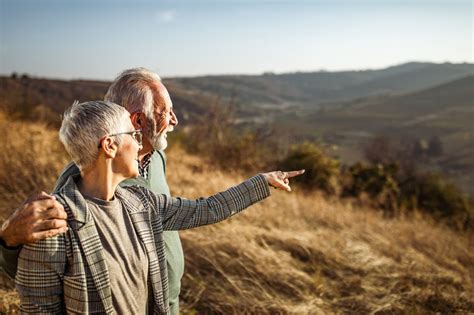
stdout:
[(473, 87), (474, 76), (466, 76), (405, 95), (362, 98), (325, 109), (303, 108), (275, 121), (292, 130), (295, 138), (318, 135), (337, 145), (340, 149), (334, 154), (348, 163), (363, 158), (363, 144), (376, 136), (423, 143), (437, 139), (443, 152), (431, 158), (430, 167), (474, 196)]

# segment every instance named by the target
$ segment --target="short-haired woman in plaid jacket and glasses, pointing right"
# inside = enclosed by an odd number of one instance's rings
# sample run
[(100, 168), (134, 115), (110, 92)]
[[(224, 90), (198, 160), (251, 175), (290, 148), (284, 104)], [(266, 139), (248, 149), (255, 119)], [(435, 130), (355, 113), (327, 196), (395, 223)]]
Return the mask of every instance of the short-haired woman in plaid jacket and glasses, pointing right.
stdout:
[(67, 233), (20, 253), (15, 281), (25, 313), (169, 313), (163, 230), (219, 222), (268, 197), (269, 185), (289, 191), (289, 178), (303, 173), (270, 172), (208, 198), (171, 198), (118, 186), (138, 175), (141, 146), (124, 108), (76, 102), (59, 136), (81, 174), (56, 195)]

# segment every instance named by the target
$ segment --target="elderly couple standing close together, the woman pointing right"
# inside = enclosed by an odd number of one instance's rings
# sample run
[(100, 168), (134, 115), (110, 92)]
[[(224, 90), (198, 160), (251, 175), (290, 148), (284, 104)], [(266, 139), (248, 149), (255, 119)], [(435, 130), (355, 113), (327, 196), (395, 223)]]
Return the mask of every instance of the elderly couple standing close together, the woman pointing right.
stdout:
[[(119, 104), (119, 105), (117, 105)], [(290, 191), (270, 172), (208, 198), (170, 197), (167, 132), (178, 120), (159, 76), (124, 71), (105, 101), (74, 103), (59, 138), (73, 163), (54, 195), (27, 200), (0, 229), (0, 263), (24, 313), (178, 314), (184, 259), (176, 230), (224, 220)]]

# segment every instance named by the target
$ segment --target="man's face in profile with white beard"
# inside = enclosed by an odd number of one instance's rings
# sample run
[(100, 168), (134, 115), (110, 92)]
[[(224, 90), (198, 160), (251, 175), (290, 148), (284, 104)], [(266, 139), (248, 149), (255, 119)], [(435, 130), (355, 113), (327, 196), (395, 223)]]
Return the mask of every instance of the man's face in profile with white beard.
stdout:
[[(167, 133), (173, 131), (178, 124), (178, 119), (173, 112), (173, 103), (166, 87), (157, 83), (158, 93), (155, 93), (153, 120), (147, 121), (145, 137), (155, 150), (164, 150), (168, 145)], [(158, 100), (158, 101), (157, 101)]]

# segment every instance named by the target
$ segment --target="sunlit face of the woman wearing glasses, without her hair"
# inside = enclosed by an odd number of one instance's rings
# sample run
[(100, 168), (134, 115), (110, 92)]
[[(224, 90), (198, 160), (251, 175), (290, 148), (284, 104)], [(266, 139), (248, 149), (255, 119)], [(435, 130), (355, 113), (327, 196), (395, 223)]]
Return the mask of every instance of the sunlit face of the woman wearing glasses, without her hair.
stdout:
[[(125, 131), (134, 131), (135, 128), (127, 116)], [(140, 145), (132, 134), (123, 134), (122, 142), (117, 149), (114, 158), (113, 172), (122, 175), (124, 178), (133, 178), (138, 176), (138, 151)]]

